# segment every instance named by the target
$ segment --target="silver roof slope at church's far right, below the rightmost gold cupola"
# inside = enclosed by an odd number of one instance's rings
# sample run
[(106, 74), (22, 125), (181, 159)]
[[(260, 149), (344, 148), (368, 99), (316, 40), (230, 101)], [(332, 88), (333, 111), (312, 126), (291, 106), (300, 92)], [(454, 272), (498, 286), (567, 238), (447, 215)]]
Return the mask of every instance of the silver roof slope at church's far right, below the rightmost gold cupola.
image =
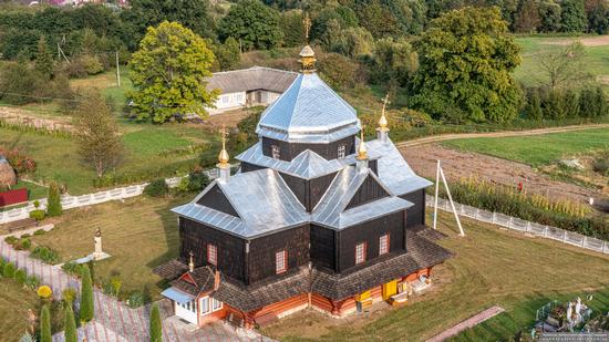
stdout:
[(391, 139), (385, 143), (375, 139), (365, 144), (369, 152), (382, 157), (378, 162), (379, 178), (395, 195), (409, 194), (433, 185), (432, 182), (416, 175)]

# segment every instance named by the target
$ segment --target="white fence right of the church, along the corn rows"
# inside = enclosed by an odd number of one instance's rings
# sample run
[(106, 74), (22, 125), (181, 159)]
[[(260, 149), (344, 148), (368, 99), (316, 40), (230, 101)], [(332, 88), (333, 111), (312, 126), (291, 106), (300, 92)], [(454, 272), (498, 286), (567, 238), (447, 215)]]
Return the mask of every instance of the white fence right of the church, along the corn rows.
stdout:
[[(426, 205), (434, 206), (434, 197), (426, 197)], [(447, 199), (437, 199), (437, 208), (444, 211), (453, 213), (451, 204)], [(473, 218), (478, 221), (497, 225), (513, 230), (530, 234), (537, 237), (557, 240), (564, 243), (581, 247), (585, 249), (609, 253), (609, 242), (591, 237), (584, 236), (565, 229), (544, 226), (531, 221), (526, 221), (516, 217), (507, 216), (499, 213), (491, 213), (475, 207), (455, 203), (455, 209), (460, 216)]]

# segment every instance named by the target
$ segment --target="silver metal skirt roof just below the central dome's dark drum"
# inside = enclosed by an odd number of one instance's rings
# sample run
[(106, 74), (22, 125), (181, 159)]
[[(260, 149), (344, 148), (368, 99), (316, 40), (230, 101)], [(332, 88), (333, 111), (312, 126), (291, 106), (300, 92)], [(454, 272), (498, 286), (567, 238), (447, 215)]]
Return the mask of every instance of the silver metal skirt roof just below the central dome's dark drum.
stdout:
[[(359, 139), (355, 139), (359, 144)], [(380, 158), (376, 152), (370, 152), (368, 158), (374, 160)], [(319, 154), (306, 149), (291, 162), (275, 159), (262, 154), (262, 144), (257, 143), (236, 157), (242, 163), (254, 164), (262, 167), (269, 167), (278, 172), (297, 176), (303, 179), (312, 179), (326, 176), (345, 168), (355, 163), (355, 154), (340, 159), (327, 160)]]

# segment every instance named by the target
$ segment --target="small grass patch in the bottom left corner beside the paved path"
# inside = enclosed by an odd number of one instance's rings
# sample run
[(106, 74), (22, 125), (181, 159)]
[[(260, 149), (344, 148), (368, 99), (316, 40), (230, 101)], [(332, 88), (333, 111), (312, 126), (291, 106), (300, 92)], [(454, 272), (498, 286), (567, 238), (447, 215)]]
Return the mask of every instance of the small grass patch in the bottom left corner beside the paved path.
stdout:
[(28, 329), (28, 309), (38, 311), (35, 292), (0, 278), (0, 341), (19, 341)]

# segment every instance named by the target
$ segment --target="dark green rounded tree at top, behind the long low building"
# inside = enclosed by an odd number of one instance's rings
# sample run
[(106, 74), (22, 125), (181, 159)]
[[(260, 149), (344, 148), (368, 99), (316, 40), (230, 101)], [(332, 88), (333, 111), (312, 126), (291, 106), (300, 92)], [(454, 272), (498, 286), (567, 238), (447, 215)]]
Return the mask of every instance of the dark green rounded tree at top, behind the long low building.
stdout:
[(279, 12), (260, 0), (242, 0), (230, 7), (220, 20), (218, 35), (240, 40), (244, 49), (271, 49), (283, 38), (279, 27)]

